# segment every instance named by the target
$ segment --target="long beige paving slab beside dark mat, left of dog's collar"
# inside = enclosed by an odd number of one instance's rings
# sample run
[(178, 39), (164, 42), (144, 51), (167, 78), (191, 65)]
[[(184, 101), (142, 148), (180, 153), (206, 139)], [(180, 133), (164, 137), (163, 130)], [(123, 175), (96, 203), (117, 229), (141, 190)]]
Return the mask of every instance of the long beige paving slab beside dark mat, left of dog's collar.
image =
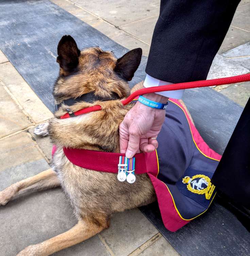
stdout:
[(10, 62), (0, 64), (0, 80), (35, 123), (40, 123), (53, 117), (53, 114)]

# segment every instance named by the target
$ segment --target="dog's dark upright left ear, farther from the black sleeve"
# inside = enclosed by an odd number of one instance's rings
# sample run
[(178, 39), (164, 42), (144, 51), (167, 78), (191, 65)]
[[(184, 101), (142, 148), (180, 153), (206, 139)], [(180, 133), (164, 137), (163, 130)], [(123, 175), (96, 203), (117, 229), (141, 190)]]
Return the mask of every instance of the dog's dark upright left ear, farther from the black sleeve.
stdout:
[(78, 58), (81, 54), (76, 41), (70, 35), (64, 35), (57, 46), (56, 62), (66, 72), (73, 72), (78, 66)]

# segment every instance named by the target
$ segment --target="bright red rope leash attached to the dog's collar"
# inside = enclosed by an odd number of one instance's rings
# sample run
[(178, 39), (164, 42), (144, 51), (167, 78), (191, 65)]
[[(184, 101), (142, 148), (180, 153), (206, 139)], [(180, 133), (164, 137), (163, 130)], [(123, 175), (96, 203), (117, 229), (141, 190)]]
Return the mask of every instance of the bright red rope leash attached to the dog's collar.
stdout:
[[(182, 90), (182, 89), (191, 89), (191, 88), (198, 88), (198, 87), (208, 87), (208, 86), (217, 86), (222, 84), (235, 84), (235, 83), (242, 83), (250, 81), (250, 73), (244, 75), (235, 75), (230, 77), (224, 78), (217, 78), (211, 80), (201, 80), (201, 81), (194, 81), (194, 82), (186, 82), (186, 83), (179, 83), (179, 84), (168, 84), (168, 85), (161, 85), (157, 87), (148, 87), (143, 88), (135, 91), (132, 93), (127, 99), (122, 100), (121, 103), (123, 105), (129, 104), (135, 97), (147, 94), (147, 93), (159, 93), (160, 91), (172, 91), (172, 90)], [(86, 114), (89, 112), (101, 110), (100, 105), (91, 106), (89, 108), (81, 109), (74, 114), (76, 116)], [(70, 117), (68, 113), (61, 116), (61, 119)]]

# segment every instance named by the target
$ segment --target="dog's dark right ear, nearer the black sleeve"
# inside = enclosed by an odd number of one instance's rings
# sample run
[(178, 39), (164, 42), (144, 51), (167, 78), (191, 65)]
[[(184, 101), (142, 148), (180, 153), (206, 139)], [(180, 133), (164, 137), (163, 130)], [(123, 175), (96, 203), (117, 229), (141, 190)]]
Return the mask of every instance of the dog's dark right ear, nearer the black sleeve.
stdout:
[(123, 79), (131, 81), (135, 71), (140, 65), (142, 49), (136, 48), (119, 58), (116, 62), (115, 72)]

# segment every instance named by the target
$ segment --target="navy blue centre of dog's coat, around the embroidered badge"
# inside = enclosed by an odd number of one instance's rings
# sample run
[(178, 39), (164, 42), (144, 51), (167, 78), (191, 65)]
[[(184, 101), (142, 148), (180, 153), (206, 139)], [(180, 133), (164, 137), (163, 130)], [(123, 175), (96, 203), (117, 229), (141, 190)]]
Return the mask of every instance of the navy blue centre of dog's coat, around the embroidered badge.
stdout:
[[(215, 172), (218, 161), (205, 157), (197, 149), (190, 131), (188, 120), (183, 110), (173, 102), (169, 102), (168, 111), (163, 128), (158, 135), (159, 159), (158, 179), (169, 188), (174, 202), (181, 216), (191, 219), (204, 212), (214, 197), (215, 190), (210, 199), (205, 194), (196, 194), (187, 189), (182, 183), (185, 176), (190, 179), (197, 174), (203, 174), (210, 179)], [(201, 178), (194, 179), (191, 186), (198, 189), (197, 184)], [(201, 187), (206, 188), (205, 181)]]

